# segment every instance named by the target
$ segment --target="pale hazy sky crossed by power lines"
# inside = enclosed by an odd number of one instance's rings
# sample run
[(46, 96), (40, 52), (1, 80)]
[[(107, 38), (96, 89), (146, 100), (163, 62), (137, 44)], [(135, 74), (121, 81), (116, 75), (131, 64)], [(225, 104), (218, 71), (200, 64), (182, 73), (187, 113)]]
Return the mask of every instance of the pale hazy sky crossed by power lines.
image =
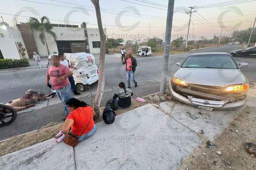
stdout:
[[(29, 17), (47, 16), (53, 24), (80, 27), (82, 22), (86, 22), (87, 28), (98, 28), (95, 9), (90, 0), (0, 1), (0, 15), (10, 26), (14, 26), (16, 21), (27, 22)], [(100, 0), (103, 28), (106, 25), (108, 38), (143, 40), (156, 36), (164, 39), (167, 6), (168, 0)], [(199, 40), (200, 36), (208, 39), (219, 36), (220, 26), (225, 26), (222, 35), (229, 36), (233, 30), (246, 29), (251, 22), (253, 25), (256, 17), (255, 0), (175, 0), (171, 41), (180, 36), (186, 39), (189, 21), (186, 11), (190, 10), (190, 6), (195, 6), (192, 11), (196, 12), (192, 13), (188, 40)], [(16, 15), (15, 18), (13, 15)]]

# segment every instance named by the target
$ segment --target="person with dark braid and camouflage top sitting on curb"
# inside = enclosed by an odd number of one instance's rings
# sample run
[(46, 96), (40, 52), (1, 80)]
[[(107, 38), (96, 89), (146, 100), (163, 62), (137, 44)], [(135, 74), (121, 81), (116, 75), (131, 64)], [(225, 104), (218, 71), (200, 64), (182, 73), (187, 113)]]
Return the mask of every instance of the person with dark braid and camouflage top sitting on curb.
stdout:
[(113, 99), (119, 109), (129, 108), (132, 104), (131, 96), (133, 92), (131, 89), (125, 87), (124, 82), (119, 83), (119, 90), (114, 94)]

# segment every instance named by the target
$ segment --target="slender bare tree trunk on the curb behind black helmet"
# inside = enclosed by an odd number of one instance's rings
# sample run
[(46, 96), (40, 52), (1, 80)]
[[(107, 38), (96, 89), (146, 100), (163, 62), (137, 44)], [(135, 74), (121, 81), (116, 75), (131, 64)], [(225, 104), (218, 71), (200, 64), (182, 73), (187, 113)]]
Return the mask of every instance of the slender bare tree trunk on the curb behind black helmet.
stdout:
[(93, 104), (93, 110), (96, 112), (96, 116), (94, 117), (94, 119), (97, 119), (100, 116), (100, 101), (101, 101), (104, 86), (105, 86), (104, 67), (105, 67), (106, 35), (104, 34), (103, 27), (102, 27), (99, 0), (91, 0), (91, 1), (95, 7), (99, 33), (100, 33), (100, 58), (99, 58), (100, 75), (99, 75), (98, 88), (97, 88), (97, 92), (96, 92), (96, 95), (94, 98), (94, 104)]

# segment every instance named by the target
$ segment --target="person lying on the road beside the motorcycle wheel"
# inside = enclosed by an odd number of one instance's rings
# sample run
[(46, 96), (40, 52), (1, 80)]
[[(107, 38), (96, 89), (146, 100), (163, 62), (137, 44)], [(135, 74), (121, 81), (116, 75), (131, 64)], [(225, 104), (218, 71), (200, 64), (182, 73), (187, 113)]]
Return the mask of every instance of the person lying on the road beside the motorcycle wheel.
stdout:
[[(45, 98), (55, 95), (56, 93), (51, 93), (44, 95), (43, 93), (38, 93), (34, 89), (29, 89), (21, 98), (9, 101), (5, 105), (13, 107), (16, 111), (24, 110), (28, 107), (36, 106), (36, 104), (43, 102)], [(9, 110), (7, 112), (10, 112)]]

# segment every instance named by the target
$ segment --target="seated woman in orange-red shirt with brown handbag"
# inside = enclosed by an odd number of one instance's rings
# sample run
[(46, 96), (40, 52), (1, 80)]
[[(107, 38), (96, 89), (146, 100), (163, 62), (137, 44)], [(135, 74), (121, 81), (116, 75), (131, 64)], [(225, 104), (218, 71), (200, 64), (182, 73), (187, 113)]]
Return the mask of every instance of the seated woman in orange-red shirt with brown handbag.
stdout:
[[(54, 137), (60, 137), (56, 140), (56, 143), (61, 142), (65, 138), (65, 134), (68, 133), (78, 135), (78, 142), (91, 137), (96, 130), (96, 125), (93, 121), (93, 116), (95, 116), (96, 113), (93, 111), (92, 107), (87, 105), (84, 101), (75, 98), (69, 99), (66, 102), (66, 105), (70, 113), (65, 120), (60, 133)], [(71, 131), (69, 131), (70, 128)]]

